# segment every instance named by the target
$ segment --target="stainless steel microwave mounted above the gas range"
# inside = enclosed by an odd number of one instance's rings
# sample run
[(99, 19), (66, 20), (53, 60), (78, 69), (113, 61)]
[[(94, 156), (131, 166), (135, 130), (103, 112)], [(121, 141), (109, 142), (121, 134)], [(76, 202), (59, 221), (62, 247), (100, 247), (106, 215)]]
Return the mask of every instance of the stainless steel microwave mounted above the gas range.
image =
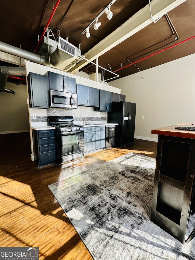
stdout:
[(50, 107), (77, 108), (77, 94), (50, 90)]

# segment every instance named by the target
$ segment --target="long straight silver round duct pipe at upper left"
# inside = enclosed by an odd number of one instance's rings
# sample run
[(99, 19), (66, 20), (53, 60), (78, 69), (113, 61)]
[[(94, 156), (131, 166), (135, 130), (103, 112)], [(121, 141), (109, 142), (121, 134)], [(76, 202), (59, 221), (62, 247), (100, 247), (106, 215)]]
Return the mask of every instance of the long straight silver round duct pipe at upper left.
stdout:
[(17, 56), (17, 57), (20, 57), (20, 58), (23, 58), (23, 59), (30, 60), (30, 61), (35, 62), (37, 64), (41, 64), (41, 65), (44, 65), (44, 66), (49, 65), (48, 60), (45, 59), (44, 56), (40, 56), (40, 55), (34, 54), (32, 52), (22, 50), (20, 48), (14, 47), (14, 46), (9, 45), (7, 43), (4, 43), (2, 41), (0, 41), (0, 51), (12, 54), (14, 56)]

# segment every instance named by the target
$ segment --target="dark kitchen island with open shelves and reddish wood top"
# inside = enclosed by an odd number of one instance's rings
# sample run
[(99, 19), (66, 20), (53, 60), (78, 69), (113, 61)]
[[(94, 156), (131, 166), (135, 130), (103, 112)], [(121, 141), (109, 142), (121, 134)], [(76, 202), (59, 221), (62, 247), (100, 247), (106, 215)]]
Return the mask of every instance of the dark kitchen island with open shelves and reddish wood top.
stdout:
[(151, 132), (158, 134), (151, 221), (184, 244), (195, 237), (194, 229), (185, 240), (189, 216), (195, 212), (195, 132), (176, 126), (193, 127), (179, 124)]

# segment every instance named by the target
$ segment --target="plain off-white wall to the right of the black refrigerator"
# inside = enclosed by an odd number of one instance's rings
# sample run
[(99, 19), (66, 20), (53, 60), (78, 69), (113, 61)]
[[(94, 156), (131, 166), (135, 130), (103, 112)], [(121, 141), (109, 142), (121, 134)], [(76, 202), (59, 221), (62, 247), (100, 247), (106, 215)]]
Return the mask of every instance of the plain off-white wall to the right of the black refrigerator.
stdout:
[(157, 141), (152, 129), (195, 123), (195, 54), (141, 73), (144, 79), (138, 72), (110, 83), (137, 103), (136, 138)]

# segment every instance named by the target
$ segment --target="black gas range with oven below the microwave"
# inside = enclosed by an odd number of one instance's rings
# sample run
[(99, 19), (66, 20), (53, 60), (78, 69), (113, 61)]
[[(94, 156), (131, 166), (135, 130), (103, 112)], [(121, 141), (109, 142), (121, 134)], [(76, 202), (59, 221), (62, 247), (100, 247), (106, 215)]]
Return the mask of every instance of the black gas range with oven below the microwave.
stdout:
[(56, 129), (58, 164), (84, 156), (84, 127), (73, 116), (48, 116), (48, 126)]

